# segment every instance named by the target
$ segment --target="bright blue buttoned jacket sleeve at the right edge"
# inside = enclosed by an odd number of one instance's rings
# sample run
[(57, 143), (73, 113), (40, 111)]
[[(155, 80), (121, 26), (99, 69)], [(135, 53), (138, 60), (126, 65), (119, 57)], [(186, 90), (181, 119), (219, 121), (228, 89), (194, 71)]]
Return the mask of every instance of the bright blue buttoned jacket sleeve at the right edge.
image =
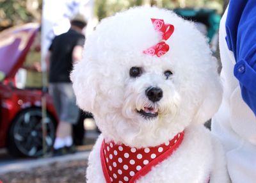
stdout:
[(239, 80), (244, 102), (256, 115), (256, 1), (230, 0), (227, 45), (234, 52), (234, 76)]

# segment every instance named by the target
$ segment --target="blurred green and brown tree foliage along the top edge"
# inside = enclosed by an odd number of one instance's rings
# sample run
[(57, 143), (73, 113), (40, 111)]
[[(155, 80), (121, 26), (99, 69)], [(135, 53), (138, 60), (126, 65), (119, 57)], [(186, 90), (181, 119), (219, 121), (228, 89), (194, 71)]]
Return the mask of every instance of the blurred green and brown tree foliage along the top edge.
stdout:
[[(54, 0), (52, 0), (54, 1)], [(95, 17), (99, 20), (126, 10), (131, 6), (159, 6), (163, 8), (208, 7), (222, 12), (223, 1), (227, 0), (95, 0)], [(32, 4), (37, 4), (32, 6)], [(40, 21), (42, 0), (0, 0), (0, 31), (10, 26)]]

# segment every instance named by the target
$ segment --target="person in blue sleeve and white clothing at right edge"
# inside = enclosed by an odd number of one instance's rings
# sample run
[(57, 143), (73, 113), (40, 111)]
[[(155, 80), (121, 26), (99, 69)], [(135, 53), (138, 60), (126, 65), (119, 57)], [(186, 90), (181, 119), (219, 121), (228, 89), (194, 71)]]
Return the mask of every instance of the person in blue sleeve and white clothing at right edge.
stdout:
[(230, 0), (220, 25), (223, 100), (212, 132), (234, 183), (256, 181), (256, 1)]

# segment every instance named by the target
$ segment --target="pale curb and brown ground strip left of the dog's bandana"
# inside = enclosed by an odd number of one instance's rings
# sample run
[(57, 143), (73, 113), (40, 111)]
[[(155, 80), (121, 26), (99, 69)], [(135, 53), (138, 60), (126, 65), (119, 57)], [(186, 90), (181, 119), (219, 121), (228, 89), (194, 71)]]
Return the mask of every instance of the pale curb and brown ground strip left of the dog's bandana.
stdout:
[(89, 152), (65, 155), (54, 159), (40, 159), (26, 164), (7, 166), (6, 173), (0, 173), (4, 183), (72, 183), (86, 182), (86, 167)]

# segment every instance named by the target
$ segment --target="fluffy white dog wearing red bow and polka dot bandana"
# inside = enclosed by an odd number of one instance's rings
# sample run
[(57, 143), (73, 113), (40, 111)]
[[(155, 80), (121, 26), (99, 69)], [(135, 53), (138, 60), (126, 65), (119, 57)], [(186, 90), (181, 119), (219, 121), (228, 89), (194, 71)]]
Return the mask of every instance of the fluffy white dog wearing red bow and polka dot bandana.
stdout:
[(88, 182), (228, 182), (204, 122), (217, 111), (217, 63), (193, 22), (140, 7), (102, 20), (71, 78), (102, 131)]

